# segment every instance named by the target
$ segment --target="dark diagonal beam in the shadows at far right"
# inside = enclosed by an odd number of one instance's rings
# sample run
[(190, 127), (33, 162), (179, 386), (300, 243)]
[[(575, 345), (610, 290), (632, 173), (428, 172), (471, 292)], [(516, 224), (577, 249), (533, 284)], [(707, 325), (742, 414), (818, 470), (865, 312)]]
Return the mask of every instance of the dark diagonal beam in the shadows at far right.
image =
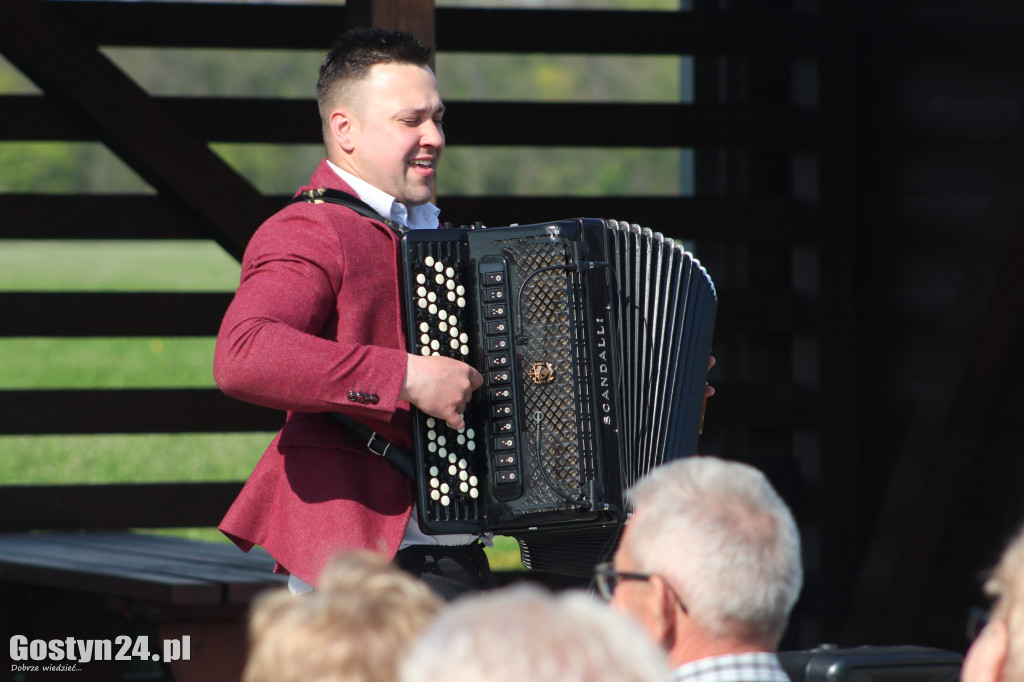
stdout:
[(1017, 124), (935, 366), (893, 467), (843, 643), (902, 643), (913, 636), (955, 493), (981, 454), (986, 417), (1019, 348), (1021, 263), (1024, 119)]

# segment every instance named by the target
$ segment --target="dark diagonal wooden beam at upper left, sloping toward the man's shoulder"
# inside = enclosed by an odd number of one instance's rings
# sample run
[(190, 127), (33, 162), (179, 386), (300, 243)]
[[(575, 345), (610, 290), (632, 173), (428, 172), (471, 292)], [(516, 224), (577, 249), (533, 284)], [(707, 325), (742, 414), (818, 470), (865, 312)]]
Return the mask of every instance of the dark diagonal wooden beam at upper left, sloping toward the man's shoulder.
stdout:
[[(0, 3), (0, 52), (241, 258), (275, 207), (41, 0)], [(139, 225), (140, 233), (145, 225)]]

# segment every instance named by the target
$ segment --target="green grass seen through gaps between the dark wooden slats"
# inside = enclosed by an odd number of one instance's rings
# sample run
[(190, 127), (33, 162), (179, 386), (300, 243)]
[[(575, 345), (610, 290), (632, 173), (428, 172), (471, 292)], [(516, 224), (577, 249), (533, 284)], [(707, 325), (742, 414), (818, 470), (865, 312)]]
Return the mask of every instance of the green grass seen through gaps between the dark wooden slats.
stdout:
[[(232, 291), (239, 265), (207, 242), (0, 241), (0, 291)], [(0, 390), (213, 387), (212, 337), (3, 338)], [(0, 436), (0, 483), (242, 481), (271, 433)], [(215, 528), (169, 534), (228, 542)], [(496, 569), (519, 548), (496, 538)]]

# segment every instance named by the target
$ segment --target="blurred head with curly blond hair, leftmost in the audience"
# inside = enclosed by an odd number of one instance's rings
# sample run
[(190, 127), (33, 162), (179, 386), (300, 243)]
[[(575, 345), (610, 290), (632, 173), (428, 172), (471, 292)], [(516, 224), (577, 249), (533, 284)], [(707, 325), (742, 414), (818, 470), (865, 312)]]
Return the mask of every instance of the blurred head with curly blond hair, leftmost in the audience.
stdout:
[(369, 552), (332, 559), (321, 589), (260, 595), (244, 682), (394, 682), (397, 651), (440, 609), (422, 582)]

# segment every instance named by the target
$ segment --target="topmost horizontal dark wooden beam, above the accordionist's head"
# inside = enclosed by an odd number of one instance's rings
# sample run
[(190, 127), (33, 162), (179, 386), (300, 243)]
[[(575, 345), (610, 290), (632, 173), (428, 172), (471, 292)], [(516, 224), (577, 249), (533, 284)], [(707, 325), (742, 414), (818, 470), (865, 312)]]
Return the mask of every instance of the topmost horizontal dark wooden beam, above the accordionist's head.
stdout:
[[(323, 51), (351, 25), (346, 18), (350, 3), (49, 0), (47, 4), (91, 42), (108, 46)], [(369, 3), (359, 11), (364, 16), (370, 12)], [(387, 13), (380, 3), (373, 11)], [(782, 11), (437, 7), (435, 17), (441, 52), (770, 57), (797, 50), (813, 54), (824, 34), (813, 15)], [(353, 18), (365, 22), (358, 26), (370, 26), (372, 20)]]

